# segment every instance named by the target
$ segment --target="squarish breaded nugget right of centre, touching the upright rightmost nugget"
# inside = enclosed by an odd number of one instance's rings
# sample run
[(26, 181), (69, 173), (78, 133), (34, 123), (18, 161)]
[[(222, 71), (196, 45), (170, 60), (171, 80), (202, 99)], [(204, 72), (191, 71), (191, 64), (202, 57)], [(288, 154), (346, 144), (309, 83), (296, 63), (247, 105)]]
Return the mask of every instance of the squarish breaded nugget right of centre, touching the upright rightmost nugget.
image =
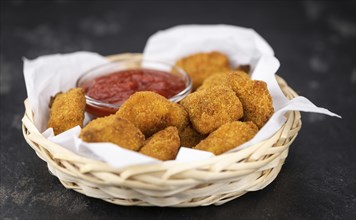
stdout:
[(226, 86), (191, 93), (180, 104), (188, 112), (193, 127), (201, 134), (208, 134), (243, 116), (239, 98)]

